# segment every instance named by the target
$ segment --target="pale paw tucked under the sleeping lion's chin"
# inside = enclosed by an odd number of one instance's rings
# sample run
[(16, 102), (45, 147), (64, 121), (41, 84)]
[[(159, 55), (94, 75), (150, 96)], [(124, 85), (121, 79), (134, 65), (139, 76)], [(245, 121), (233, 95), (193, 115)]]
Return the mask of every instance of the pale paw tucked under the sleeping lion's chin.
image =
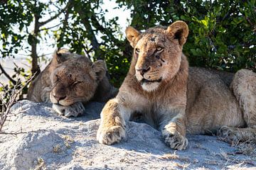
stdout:
[(65, 117), (82, 115), (85, 112), (85, 107), (82, 103), (74, 103), (70, 106), (60, 106), (53, 104), (53, 110), (57, 112), (59, 115), (64, 115)]

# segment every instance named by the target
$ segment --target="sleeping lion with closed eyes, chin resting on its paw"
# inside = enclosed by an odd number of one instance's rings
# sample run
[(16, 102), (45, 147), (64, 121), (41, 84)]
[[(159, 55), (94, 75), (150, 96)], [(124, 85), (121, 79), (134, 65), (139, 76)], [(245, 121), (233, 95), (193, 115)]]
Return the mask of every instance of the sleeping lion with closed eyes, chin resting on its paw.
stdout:
[(89, 101), (106, 102), (117, 89), (107, 79), (103, 60), (91, 62), (88, 57), (62, 49), (54, 52), (46, 69), (31, 83), (28, 100), (53, 103), (53, 109), (69, 117), (84, 113)]

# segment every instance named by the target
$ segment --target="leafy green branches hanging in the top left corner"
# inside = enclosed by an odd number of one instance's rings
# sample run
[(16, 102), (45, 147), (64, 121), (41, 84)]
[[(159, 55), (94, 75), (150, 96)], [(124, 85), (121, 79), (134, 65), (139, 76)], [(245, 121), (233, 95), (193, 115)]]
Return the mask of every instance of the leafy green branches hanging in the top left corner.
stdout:
[[(0, 4), (0, 38), (1, 57), (14, 57), (21, 47), (25, 35), (18, 33), (33, 21), (31, 11), (23, 8), (23, 1), (1, 1)], [(15, 31), (14, 29), (17, 29)]]

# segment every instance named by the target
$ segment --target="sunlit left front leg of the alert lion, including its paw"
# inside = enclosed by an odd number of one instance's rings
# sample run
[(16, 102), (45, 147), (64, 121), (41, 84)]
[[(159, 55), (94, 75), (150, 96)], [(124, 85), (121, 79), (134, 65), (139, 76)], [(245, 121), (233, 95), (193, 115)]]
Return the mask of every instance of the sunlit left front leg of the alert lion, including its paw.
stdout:
[(129, 120), (130, 113), (117, 98), (108, 101), (100, 114), (97, 140), (106, 145), (119, 142), (125, 137), (125, 121)]

